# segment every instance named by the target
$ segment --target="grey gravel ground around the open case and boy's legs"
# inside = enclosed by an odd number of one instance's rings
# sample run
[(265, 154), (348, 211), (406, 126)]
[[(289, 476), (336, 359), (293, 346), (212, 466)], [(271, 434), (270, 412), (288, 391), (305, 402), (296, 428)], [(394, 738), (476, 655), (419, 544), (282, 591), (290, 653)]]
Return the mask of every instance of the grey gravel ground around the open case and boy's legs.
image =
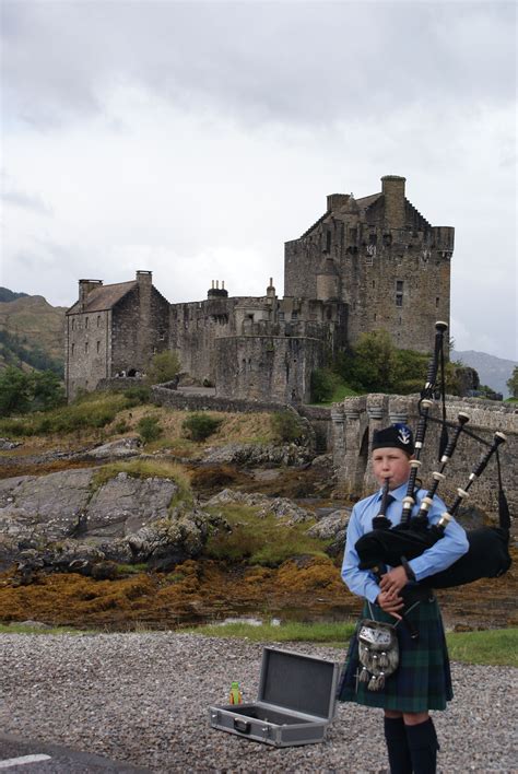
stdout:
[[(343, 650), (279, 647), (341, 661)], [(326, 740), (275, 749), (216, 731), (232, 680), (257, 695), (262, 645), (191, 634), (0, 635), (0, 728), (151, 772), (380, 772), (381, 713), (339, 704)], [(435, 713), (442, 772), (517, 772), (517, 670), (454, 664)], [(515, 695), (513, 695), (513, 693)], [(515, 734), (516, 736), (516, 734)], [(35, 772), (34, 765), (31, 767)]]

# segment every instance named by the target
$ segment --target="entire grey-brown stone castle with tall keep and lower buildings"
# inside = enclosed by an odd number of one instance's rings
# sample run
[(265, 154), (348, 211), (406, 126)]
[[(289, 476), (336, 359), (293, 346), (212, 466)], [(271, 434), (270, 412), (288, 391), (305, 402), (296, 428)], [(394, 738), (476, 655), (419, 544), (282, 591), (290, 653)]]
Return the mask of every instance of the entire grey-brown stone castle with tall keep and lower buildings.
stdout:
[(80, 280), (66, 316), (69, 398), (175, 350), (181, 371), (216, 396), (297, 404), (309, 400), (311, 373), (365, 331), (429, 351), (435, 321), (449, 322), (455, 230), (432, 226), (404, 184), (387, 175), (378, 194), (328, 196), (323, 215), (285, 244), (283, 297), (272, 280), (263, 296), (232, 297), (217, 281), (205, 300), (181, 304), (150, 271), (110, 285)]

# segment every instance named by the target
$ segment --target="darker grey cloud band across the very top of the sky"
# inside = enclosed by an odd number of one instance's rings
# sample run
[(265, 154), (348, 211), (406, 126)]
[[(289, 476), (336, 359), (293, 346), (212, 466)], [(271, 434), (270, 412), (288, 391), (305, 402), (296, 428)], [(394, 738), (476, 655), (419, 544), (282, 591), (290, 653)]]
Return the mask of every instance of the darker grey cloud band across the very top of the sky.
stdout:
[(514, 98), (510, 3), (4, 0), (7, 103), (42, 125), (140, 84), (185, 109), (319, 125)]

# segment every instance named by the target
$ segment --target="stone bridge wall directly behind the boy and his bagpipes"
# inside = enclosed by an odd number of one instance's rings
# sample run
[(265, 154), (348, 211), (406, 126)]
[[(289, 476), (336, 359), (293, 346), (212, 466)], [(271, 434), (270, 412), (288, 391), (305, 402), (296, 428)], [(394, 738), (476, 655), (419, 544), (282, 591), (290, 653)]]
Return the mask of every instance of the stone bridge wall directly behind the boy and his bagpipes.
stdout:
[[(333, 462), (337, 471), (338, 492), (341, 495), (362, 497), (376, 489), (370, 462), (369, 446), (375, 430), (386, 427), (393, 422), (407, 422), (417, 426), (419, 398), (416, 396), (367, 395), (346, 398), (331, 409)], [(502, 474), (509, 508), (516, 514), (518, 506), (518, 410), (513, 404), (485, 401), (475, 398), (461, 400), (449, 399), (446, 417), (456, 422), (459, 411), (470, 417), (467, 425), (486, 442), (491, 442), (496, 431), (507, 436), (507, 443), (501, 447)], [(439, 407), (431, 409), (432, 419), (438, 420)], [(440, 426), (429, 422), (425, 445), (421, 455), (421, 479), (427, 489), (432, 483), (432, 472), (437, 470), (437, 449)], [(451, 504), (458, 486), (464, 488), (469, 474), (480, 460), (486, 447), (463, 433), (457, 450), (448, 464), (446, 480), (440, 484), (438, 494)], [(473, 482), (467, 504), (475, 505), (488, 514), (496, 515), (497, 509), (497, 468), (493, 457), (481, 478)]]

